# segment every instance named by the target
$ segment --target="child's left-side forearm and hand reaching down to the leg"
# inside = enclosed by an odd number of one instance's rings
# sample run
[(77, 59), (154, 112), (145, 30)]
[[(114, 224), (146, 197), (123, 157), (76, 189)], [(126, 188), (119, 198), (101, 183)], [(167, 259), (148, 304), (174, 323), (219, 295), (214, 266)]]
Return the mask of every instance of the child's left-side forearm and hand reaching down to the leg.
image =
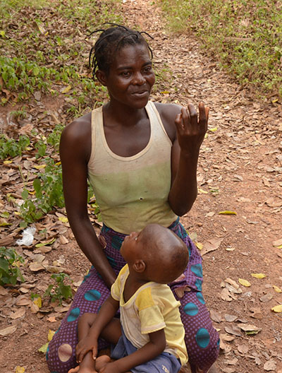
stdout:
[(114, 300), (111, 295), (109, 298), (102, 304), (99, 314), (92, 324), (87, 336), (82, 338), (78, 342), (75, 349), (76, 360), (82, 362), (83, 357), (87, 354), (88, 351), (92, 351), (93, 359), (96, 359), (97, 356), (97, 341), (100, 333), (103, 331), (105, 326), (114, 318), (119, 307), (119, 302)]

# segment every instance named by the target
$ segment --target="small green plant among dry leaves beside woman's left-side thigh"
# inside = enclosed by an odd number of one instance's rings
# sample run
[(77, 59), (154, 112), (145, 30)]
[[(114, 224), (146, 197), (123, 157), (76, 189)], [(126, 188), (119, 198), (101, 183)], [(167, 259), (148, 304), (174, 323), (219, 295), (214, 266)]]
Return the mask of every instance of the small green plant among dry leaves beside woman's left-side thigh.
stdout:
[[(56, 281), (56, 287), (50, 284), (44, 292), (44, 297), (51, 297), (51, 302), (55, 302), (56, 300), (59, 301), (59, 304), (62, 304), (63, 300), (68, 300), (69, 298), (73, 297), (73, 292), (71, 291), (71, 285), (66, 285), (64, 283), (65, 279), (70, 280), (70, 276), (66, 273), (54, 273), (51, 275), (51, 278), (54, 278)], [(73, 282), (71, 280), (71, 282)]]

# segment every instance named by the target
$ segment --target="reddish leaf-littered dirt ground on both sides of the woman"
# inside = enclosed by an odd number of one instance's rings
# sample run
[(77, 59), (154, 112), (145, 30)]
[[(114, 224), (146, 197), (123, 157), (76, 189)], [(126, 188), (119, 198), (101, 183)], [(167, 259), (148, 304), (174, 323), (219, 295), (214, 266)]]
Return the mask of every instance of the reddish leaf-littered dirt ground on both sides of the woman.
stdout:
[[(203, 101), (210, 107), (199, 160), (199, 194), (181, 221), (202, 249), (203, 292), (221, 334), (219, 372), (282, 373), (282, 313), (271, 310), (282, 304), (281, 103), (259, 101), (235, 83), (191, 35), (170, 35), (156, 5), (124, 1), (123, 8), (128, 25), (139, 25), (154, 37), (154, 64), (166, 66), (164, 73), (171, 74), (170, 86), (154, 90), (152, 99), (181, 105)], [(44, 100), (42, 105), (58, 112), (63, 99)], [(7, 110), (1, 113), (4, 124)], [(1, 165), (3, 178), (9, 177), (2, 179), (3, 195), (17, 172), (17, 167)], [(4, 199), (0, 206), (6, 208)], [(58, 220), (62, 213), (49, 214), (40, 223), (51, 227), (57, 238), (50, 251), (19, 249), (26, 257), (44, 255), (45, 263), (63, 266), (77, 288), (89, 264), (68, 223)], [(3, 239), (4, 227), (0, 229)], [(12, 246), (20, 230), (11, 236), (9, 229)], [(254, 273), (265, 277), (256, 278)], [(29, 268), (24, 274), (27, 282), (22, 287), (0, 288), (0, 329), (13, 328), (13, 333), (0, 336), (0, 370), (10, 373), (23, 367), (26, 373), (47, 373), (38, 349), (47, 343), (48, 331), (59, 327), (68, 304), (43, 305), (41, 312), (30, 307), (25, 294), (44, 292), (50, 274)]]

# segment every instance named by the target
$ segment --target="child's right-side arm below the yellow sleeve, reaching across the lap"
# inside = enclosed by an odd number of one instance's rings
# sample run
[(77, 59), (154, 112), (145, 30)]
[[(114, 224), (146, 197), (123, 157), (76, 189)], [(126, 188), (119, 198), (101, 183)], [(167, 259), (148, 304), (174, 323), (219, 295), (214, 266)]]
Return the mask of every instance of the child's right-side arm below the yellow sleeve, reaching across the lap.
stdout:
[(140, 350), (115, 362), (109, 362), (106, 367), (100, 370), (100, 373), (128, 372), (131, 368), (154, 359), (154, 357), (157, 357), (164, 351), (164, 348), (166, 348), (164, 329), (149, 333), (149, 342), (140, 348)]

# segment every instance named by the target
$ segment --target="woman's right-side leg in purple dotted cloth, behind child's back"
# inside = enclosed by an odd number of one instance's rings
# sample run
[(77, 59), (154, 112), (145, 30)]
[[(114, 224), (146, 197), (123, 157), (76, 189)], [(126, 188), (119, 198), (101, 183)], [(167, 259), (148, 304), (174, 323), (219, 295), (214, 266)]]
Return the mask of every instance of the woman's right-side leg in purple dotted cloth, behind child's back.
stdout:
[(181, 303), (180, 315), (185, 328), (185, 343), (192, 373), (206, 373), (219, 355), (219, 333), (212, 325), (202, 296), (202, 257), (183, 225), (176, 221), (171, 230), (183, 239), (190, 256), (188, 267), (183, 273), (184, 278), (170, 286)]

